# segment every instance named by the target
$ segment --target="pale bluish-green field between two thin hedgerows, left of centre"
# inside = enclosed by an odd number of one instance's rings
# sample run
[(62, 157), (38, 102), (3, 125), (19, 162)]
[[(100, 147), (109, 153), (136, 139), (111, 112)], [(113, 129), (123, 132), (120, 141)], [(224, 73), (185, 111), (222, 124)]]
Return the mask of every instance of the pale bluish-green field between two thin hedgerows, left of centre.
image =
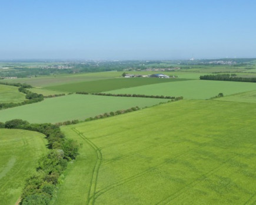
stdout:
[(31, 123), (64, 122), (73, 119), (84, 120), (105, 112), (124, 110), (136, 106), (143, 108), (167, 101), (167, 99), (156, 98), (72, 94), (1, 110), (0, 122), (17, 118)]

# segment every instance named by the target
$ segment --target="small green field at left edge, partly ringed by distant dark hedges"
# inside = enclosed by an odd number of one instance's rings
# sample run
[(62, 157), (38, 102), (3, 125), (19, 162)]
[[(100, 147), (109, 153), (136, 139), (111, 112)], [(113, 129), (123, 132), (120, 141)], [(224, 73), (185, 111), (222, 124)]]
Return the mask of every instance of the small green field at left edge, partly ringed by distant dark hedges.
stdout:
[(2, 102), (22, 102), (25, 94), (18, 91), (18, 87), (5, 86), (0, 84), (0, 103)]

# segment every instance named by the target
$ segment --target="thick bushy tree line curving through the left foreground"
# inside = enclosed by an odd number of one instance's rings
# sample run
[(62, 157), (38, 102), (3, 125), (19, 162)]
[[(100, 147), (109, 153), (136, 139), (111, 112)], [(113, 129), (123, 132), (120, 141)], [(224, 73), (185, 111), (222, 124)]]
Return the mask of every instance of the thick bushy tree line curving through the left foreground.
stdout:
[(49, 123), (29, 124), (22, 119), (13, 119), (5, 123), (0, 122), (0, 128), (26, 129), (46, 135), (51, 151), (39, 159), (36, 173), (26, 179), (20, 204), (49, 204), (68, 161), (78, 155), (77, 142), (65, 138), (58, 125)]

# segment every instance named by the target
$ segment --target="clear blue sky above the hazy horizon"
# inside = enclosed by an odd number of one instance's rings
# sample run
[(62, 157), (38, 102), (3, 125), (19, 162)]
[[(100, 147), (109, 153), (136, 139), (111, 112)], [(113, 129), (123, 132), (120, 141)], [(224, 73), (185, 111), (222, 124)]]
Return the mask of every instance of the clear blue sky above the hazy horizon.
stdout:
[(256, 57), (255, 0), (0, 0), (0, 59)]

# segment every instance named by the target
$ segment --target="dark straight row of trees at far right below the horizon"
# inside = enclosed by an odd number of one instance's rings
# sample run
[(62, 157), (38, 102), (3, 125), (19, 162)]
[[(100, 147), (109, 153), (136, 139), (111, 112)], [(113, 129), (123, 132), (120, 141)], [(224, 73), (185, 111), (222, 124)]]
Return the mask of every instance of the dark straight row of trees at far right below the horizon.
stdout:
[(236, 74), (205, 75), (200, 76), (200, 80), (224, 80), (256, 83), (255, 77), (237, 77)]

